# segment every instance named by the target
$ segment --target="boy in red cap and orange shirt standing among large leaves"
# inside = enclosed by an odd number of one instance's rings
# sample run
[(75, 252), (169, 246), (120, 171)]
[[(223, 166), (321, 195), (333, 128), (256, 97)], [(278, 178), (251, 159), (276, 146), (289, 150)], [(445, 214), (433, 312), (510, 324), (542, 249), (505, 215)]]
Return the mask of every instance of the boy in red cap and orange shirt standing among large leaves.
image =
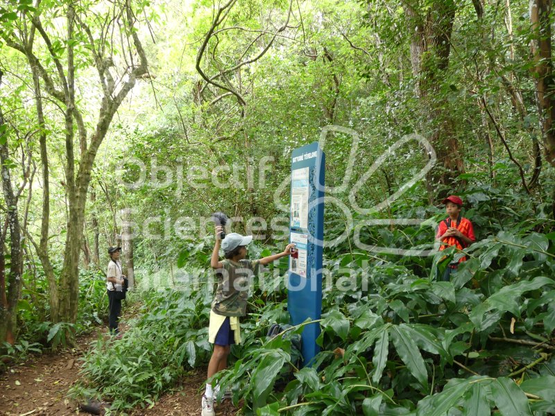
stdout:
[[(445, 204), (447, 218), (439, 223), (438, 234), (436, 235), (436, 239), (441, 244), (439, 250), (445, 250), (445, 248), (452, 245), (455, 245), (459, 250), (463, 250), (476, 241), (472, 223), (468, 218), (461, 216), (463, 200), (458, 196), (452, 195), (445, 198), (443, 203)], [(463, 257), (459, 261), (452, 261), (447, 264), (442, 280), (449, 281), (451, 273), (456, 271), (461, 261), (465, 260), (466, 257)]]

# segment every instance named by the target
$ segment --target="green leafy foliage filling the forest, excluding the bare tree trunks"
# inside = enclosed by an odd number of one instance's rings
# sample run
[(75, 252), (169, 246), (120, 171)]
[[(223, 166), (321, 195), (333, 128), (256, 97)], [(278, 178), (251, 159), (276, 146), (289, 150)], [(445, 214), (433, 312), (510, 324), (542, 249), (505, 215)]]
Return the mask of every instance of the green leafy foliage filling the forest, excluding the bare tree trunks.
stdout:
[[(519, 171), (526, 180), (533, 175), (533, 146), (542, 139), (527, 4), (510, 4), (509, 30), (508, 3), (484, 2), (481, 18), (471, 2), (457, 3), (447, 68), (438, 69), (428, 54), (425, 64), (432, 71), (414, 73), (411, 40), (418, 26), (407, 19), (407, 5), (426, 15), (438, 2), (291, 3), (289, 27), (264, 57), (226, 78), (228, 85), (241, 88), (247, 102), (241, 108), (232, 96), (216, 101), (218, 89), (199, 93), (203, 84), (196, 56), (218, 5), (207, 0), (137, 3), (144, 14), (137, 31), (145, 42), (149, 74), (124, 101), (96, 159), (83, 234), (89, 248), (99, 234), (101, 258), (87, 266), (82, 262), (78, 322), (51, 323), (44, 271), (26, 237), (19, 338), (15, 345), (3, 345), (2, 358), (22, 360), (45, 347), (65, 345), (68, 332), (87, 331), (105, 320), (101, 270), (108, 257), (103, 252), (121, 237), (121, 209), (130, 208), (136, 231), (132, 301), (139, 313), (121, 340), (96, 341), (72, 395), (109, 399), (116, 412), (152, 405), (210, 358), (213, 225), (207, 218), (213, 211), (243, 218), (233, 231), (257, 236), (251, 258), (278, 252), (287, 239), (289, 215), (279, 206), (287, 205), (289, 188), (280, 184), (287, 182), (293, 148), (318, 140), (328, 125), (359, 135), (356, 150), (345, 133), (329, 132), (325, 144), (328, 185), (341, 184), (353, 163), (347, 189), (333, 195), (350, 207), (350, 189), (390, 146), (404, 135), (439, 132), (438, 143), (451, 138), (459, 144), (465, 165), (452, 181), (436, 180), (435, 174), (445, 173), (438, 164), (434, 175), (413, 184), (384, 210), (352, 213), (352, 223), (328, 198), (325, 240), (336, 243), (324, 252), (323, 320), (307, 323), (322, 328), (318, 365), (300, 370), (291, 359), (290, 334), (300, 328), (266, 339), (273, 322), (289, 322), (283, 284), (287, 263), (281, 261), (270, 268), (274, 285), (257, 281), (253, 286), (243, 322), (246, 339), (234, 347), (232, 365), (217, 378), (232, 388), (235, 404), (245, 399), (245, 414), (555, 413), (553, 169), (543, 163), (531, 193), (524, 191)], [(11, 11), (14, 5), (5, 1), (0, 6), (2, 33), (15, 28), (22, 13), (36, 11), (28, 1), (19, 1), (17, 12)], [(65, 6), (43, 1), (38, 12), (56, 31)], [(79, 7), (93, 31), (99, 30), (102, 23), (94, 17), (102, 6), (85, 2)], [(210, 53), (199, 65), (216, 75), (253, 58), (269, 38), (253, 31), (275, 31), (288, 10), (286, 1), (239, 0), (225, 21), (236, 29), (210, 40)], [(56, 51), (64, 60), (67, 40), (58, 35)], [(85, 124), (92, 128), (100, 105), (89, 68), (93, 59), (87, 42), (78, 35), (71, 41), (78, 44), (77, 75), (85, 85), (78, 101), (87, 103)], [(244, 54), (249, 45), (253, 50)], [(111, 46), (114, 56), (121, 55)], [(41, 58), (48, 71), (55, 70), (46, 52)], [(0, 64), (6, 70), (0, 103), (8, 125), (0, 137), (3, 143), (9, 139), (9, 167), (21, 183), (18, 158), (29, 154), (40, 164), (37, 141), (23, 139), (37, 129), (29, 104), (31, 74), (22, 69), (22, 56), (3, 43)], [(434, 88), (418, 94), (430, 73)], [(59, 275), (68, 220), (63, 118), (53, 103), (45, 103), (45, 109), (52, 178), (49, 244)], [(428, 157), (415, 141), (404, 144), (363, 184), (356, 202), (370, 208), (385, 200), (417, 175)], [(259, 165), (264, 158), (268, 171)], [(157, 173), (156, 166), (166, 170)], [(198, 177), (203, 168), (205, 176)], [(139, 183), (142, 174), (145, 180)], [(214, 187), (214, 178), (230, 186)], [(126, 185), (135, 182), (136, 187)], [(355, 230), (366, 220), (415, 218), (422, 225), (362, 227), (361, 242), (432, 248), (432, 225), (445, 215), (438, 202), (447, 193), (466, 201), (464, 215), (478, 238), (452, 281), (436, 279), (436, 270), (445, 267), (440, 255), (400, 257), (357, 247)], [(20, 201), (26, 207), (20, 209), (27, 213), (26, 232), (36, 238), (40, 180), (23, 190)], [(268, 229), (250, 228), (247, 220), (255, 217), (264, 218)], [(156, 220), (149, 225), (147, 218)], [(182, 232), (179, 218), (191, 221)], [(6, 240), (6, 248), (10, 244)], [(5, 260), (9, 270), (9, 256)], [(344, 356), (334, 353), (338, 348)]]

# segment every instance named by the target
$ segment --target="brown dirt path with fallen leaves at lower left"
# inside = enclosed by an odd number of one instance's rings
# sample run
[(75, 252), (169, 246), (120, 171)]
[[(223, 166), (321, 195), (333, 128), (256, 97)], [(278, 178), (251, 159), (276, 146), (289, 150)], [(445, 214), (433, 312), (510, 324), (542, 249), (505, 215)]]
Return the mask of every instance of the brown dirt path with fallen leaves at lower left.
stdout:
[[(79, 379), (78, 358), (96, 339), (96, 331), (78, 339), (77, 347), (56, 354), (33, 356), (0, 374), (1, 416), (66, 416), (86, 415), (78, 404), (66, 397), (67, 390)], [(175, 392), (162, 397), (153, 408), (137, 409), (133, 416), (199, 416), (199, 388), (206, 370), (192, 370), (180, 381)], [(232, 416), (237, 409), (230, 401), (216, 406), (216, 415)]]

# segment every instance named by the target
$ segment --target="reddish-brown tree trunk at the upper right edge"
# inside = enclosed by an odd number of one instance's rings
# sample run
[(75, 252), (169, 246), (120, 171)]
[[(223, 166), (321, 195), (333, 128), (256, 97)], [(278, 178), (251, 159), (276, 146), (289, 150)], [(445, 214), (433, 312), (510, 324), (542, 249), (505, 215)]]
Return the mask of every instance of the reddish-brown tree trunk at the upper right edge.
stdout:
[(553, 100), (551, 12), (551, 0), (530, 0), (530, 19), (533, 33), (531, 52), (536, 63), (536, 66), (532, 69), (536, 80), (536, 102), (543, 134), (545, 159), (552, 166), (555, 166), (555, 133), (553, 131), (555, 106)]

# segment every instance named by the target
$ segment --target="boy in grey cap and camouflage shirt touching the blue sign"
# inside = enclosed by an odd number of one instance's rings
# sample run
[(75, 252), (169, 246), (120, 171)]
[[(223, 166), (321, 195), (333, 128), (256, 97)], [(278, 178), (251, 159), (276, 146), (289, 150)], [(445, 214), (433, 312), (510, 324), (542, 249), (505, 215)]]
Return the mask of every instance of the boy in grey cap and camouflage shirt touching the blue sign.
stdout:
[[(289, 244), (279, 254), (264, 257), (259, 260), (245, 259), (246, 245), (253, 241), (253, 236), (241, 236), (231, 233), (223, 241), (220, 234), (223, 227), (216, 226), (216, 243), (212, 251), (210, 266), (216, 271), (218, 288), (212, 301), (210, 311), (210, 327), (208, 340), (214, 344), (214, 352), (208, 363), (207, 379), (214, 376), (228, 365), (228, 355), (232, 344), (241, 342), (239, 333), (239, 317), (246, 314), (248, 289), (251, 277), (259, 272), (260, 266), (281, 259), (291, 254), (294, 244)], [(219, 261), (220, 245), (225, 259)], [(214, 397), (218, 395), (219, 386), (212, 390), (212, 385), (206, 385), (203, 395), (202, 416), (214, 416)]]

